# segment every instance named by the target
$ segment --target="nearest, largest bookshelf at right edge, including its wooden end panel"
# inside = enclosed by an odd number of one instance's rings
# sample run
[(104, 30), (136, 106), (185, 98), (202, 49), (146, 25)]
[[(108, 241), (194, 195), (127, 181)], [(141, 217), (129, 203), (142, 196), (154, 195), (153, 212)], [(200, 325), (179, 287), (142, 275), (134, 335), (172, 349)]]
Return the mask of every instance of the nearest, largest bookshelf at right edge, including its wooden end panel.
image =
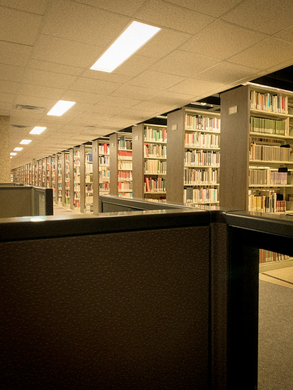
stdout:
[(221, 94), (221, 113), (221, 206), (292, 213), (293, 93), (247, 84)]

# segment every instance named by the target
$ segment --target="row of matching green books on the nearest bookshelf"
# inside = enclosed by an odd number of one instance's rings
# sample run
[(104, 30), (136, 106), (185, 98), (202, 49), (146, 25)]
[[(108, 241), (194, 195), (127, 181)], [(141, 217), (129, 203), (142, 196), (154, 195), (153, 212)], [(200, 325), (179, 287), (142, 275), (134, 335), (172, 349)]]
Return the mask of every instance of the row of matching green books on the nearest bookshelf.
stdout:
[(289, 135), (289, 118), (284, 121), (275, 121), (273, 119), (250, 117), (250, 131), (252, 133)]

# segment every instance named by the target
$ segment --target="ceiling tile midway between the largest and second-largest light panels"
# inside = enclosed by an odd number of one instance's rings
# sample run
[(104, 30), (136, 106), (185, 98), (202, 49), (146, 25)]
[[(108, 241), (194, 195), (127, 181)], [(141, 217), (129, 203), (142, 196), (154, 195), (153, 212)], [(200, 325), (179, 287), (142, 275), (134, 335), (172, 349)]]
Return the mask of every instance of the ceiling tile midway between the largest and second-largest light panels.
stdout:
[(74, 83), (71, 84), (72, 90), (92, 93), (111, 94), (115, 89), (119, 88), (121, 84), (112, 83), (104, 80), (96, 80), (93, 78), (79, 77)]

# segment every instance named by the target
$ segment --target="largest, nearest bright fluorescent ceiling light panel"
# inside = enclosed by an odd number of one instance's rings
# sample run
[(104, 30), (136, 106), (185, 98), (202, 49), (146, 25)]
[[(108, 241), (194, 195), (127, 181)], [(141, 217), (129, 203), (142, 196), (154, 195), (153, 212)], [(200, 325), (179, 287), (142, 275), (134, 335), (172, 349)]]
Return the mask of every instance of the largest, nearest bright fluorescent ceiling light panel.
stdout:
[(133, 21), (91, 69), (111, 73), (160, 30), (159, 27)]

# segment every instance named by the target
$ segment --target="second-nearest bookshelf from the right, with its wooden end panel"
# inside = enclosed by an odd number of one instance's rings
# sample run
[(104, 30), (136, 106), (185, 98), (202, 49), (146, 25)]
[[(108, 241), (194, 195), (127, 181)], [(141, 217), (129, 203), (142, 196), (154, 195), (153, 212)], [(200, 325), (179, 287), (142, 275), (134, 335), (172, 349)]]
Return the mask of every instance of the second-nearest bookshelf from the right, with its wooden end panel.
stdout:
[(167, 117), (167, 201), (218, 205), (220, 113), (184, 107)]

